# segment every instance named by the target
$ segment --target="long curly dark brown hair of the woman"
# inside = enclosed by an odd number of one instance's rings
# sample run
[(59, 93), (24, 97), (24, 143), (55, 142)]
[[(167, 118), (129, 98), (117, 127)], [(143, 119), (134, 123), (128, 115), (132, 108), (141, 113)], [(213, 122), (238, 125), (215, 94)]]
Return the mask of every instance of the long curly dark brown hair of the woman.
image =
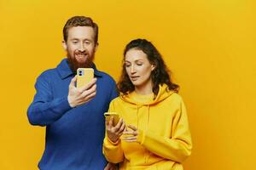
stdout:
[(136, 48), (142, 50), (144, 54), (147, 54), (148, 61), (151, 65), (154, 65), (154, 70), (151, 72), (151, 78), (153, 82), (153, 93), (156, 96), (159, 92), (159, 85), (166, 84), (168, 89), (174, 92), (178, 92), (179, 86), (172, 82), (171, 71), (166, 67), (164, 60), (162, 59), (159, 51), (154, 47), (151, 42), (146, 39), (135, 39), (129, 42), (124, 51), (122, 74), (117, 83), (117, 88), (120, 93), (128, 94), (135, 90), (126, 70), (125, 70), (125, 54), (131, 49)]

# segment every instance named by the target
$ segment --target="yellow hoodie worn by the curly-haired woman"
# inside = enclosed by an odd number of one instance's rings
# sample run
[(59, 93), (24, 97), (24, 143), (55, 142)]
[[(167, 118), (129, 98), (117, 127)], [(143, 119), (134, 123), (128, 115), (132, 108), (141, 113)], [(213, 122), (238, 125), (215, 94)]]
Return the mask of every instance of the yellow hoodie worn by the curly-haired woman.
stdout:
[(110, 103), (109, 111), (119, 114), (126, 125), (138, 128), (137, 142), (119, 139), (113, 143), (105, 136), (103, 154), (120, 169), (182, 170), (182, 162), (191, 153), (189, 122), (183, 99), (160, 86), (155, 99), (135, 92)]

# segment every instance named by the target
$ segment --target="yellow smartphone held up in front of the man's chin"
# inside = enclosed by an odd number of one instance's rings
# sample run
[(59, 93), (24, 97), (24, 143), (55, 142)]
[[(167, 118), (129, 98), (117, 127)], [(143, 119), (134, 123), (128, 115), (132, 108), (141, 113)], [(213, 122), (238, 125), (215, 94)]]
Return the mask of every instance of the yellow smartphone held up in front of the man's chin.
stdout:
[(85, 86), (94, 77), (92, 68), (78, 68), (77, 70), (77, 88)]

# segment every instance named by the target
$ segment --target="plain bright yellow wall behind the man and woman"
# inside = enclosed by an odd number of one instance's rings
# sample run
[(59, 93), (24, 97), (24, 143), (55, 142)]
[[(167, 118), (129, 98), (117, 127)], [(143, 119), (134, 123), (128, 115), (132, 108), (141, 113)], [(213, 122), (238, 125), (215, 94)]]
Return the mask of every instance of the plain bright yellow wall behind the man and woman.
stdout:
[(44, 127), (26, 109), (38, 75), (65, 57), (62, 26), (73, 15), (100, 27), (96, 65), (119, 78), (125, 44), (147, 38), (171, 68), (193, 135), (187, 170), (255, 169), (254, 0), (0, 0), (0, 169), (32, 170)]

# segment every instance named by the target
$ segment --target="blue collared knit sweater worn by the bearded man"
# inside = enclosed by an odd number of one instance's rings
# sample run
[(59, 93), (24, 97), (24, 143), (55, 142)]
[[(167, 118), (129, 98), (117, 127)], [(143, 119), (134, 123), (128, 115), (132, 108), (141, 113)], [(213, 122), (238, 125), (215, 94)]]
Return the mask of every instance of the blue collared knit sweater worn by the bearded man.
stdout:
[(106, 166), (103, 113), (117, 92), (112, 77), (97, 71), (95, 65), (93, 69), (96, 97), (75, 108), (67, 101), (68, 85), (74, 77), (67, 59), (38, 77), (27, 116), (32, 125), (46, 126), (44, 155), (38, 163), (41, 170), (99, 170)]

